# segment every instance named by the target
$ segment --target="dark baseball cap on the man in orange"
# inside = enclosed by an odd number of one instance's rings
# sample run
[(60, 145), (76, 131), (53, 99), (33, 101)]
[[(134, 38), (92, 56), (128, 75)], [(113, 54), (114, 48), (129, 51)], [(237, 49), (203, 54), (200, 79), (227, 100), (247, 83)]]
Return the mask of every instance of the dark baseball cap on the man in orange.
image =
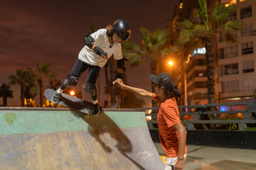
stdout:
[(172, 91), (174, 89), (174, 86), (176, 86), (176, 84), (174, 84), (174, 79), (168, 73), (162, 72), (159, 74), (159, 76), (150, 74), (149, 79), (151, 79), (151, 81), (153, 81), (155, 84), (163, 86), (164, 89), (168, 91)]

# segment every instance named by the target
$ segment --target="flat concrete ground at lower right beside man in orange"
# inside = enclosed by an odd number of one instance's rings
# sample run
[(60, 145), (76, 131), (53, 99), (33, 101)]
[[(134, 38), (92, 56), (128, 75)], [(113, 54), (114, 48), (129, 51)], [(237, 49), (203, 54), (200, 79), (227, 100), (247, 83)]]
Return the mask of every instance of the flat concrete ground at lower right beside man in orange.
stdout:
[[(154, 142), (161, 158), (165, 162), (161, 144)], [(187, 145), (188, 157), (184, 170), (256, 170), (255, 149), (234, 149)]]

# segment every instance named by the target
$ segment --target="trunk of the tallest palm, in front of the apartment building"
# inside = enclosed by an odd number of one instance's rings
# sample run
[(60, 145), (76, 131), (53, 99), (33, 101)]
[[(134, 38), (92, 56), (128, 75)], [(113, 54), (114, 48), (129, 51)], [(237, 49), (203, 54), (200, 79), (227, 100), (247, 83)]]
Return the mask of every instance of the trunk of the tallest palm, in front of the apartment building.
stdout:
[(210, 42), (210, 35), (206, 36), (206, 64), (207, 64), (207, 94), (208, 103), (215, 103), (215, 89), (214, 89), (214, 68), (213, 68), (213, 47)]

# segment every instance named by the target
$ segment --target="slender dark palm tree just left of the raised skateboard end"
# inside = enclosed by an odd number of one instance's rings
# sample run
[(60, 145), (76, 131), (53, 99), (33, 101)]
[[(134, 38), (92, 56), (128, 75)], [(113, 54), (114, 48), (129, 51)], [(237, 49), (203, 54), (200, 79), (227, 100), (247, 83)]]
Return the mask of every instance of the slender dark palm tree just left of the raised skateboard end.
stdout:
[(36, 71), (38, 72), (38, 84), (39, 84), (39, 94), (40, 94), (40, 106), (43, 107), (43, 81), (46, 77), (53, 78), (55, 74), (50, 74), (50, 64), (36, 62)]

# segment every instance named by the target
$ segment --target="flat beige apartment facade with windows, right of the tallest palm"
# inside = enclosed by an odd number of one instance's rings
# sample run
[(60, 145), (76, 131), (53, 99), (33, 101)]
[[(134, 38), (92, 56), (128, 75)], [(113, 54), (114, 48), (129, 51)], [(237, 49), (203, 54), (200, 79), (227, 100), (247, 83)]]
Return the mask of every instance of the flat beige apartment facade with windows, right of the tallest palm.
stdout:
[(223, 0), (226, 5), (235, 4), (235, 11), (230, 17), (242, 21), (243, 28), (235, 36), (236, 43), (225, 42), (222, 35), (217, 36), (218, 87), (220, 101), (238, 102), (254, 101), (256, 89), (256, 1), (255, 0)]

